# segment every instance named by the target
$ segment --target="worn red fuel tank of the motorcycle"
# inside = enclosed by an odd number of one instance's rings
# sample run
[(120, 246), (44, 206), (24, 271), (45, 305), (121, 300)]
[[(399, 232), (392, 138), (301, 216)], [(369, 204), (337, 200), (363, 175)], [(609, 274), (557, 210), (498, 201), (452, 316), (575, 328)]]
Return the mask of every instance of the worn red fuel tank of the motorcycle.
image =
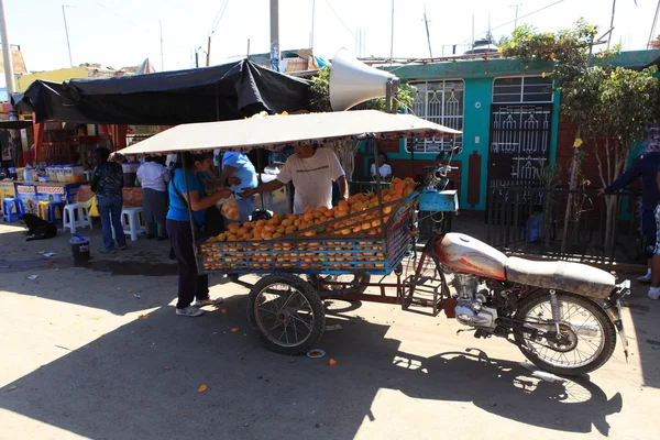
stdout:
[(436, 252), (452, 271), (506, 279), (506, 255), (472, 237), (450, 232), (438, 241)]

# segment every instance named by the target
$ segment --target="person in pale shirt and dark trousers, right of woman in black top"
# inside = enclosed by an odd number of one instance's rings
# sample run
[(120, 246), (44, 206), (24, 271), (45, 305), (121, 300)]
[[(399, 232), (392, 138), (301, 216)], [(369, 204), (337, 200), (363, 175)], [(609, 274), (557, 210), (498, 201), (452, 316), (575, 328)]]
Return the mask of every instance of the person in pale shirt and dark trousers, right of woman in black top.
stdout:
[[(169, 169), (158, 164), (153, 156), (147, 156), (145, 163), (138, 168), (138, 180), (142, 186), (142, 208), (144, 222), (152, 226), (156, 223), (157, 239), (166, 240), (165, 216), (167, 215), (167, 183)], [(153, 239), (151, 233), (147, 239)]]

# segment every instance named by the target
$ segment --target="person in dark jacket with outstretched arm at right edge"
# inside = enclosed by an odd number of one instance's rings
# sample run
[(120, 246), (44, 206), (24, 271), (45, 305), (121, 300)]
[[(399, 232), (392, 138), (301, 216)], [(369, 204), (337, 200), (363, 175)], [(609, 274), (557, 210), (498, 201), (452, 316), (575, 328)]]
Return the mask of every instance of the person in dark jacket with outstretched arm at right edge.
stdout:
[(656, 183), (660, 166), (660, 143), (647, 142), (645, 151), (630, 168), (617, 177), (610, 185), (601, 189), (598, 196), (613, 194), (641, 177), (641, 234), (644, 237), (644, 254), (647, 258), (646, 275), (637, 278), (640, 283), (651, 282), (651, 258), (656, 249), (656, 216), (653, 211), (660, 201), (660, 189)]

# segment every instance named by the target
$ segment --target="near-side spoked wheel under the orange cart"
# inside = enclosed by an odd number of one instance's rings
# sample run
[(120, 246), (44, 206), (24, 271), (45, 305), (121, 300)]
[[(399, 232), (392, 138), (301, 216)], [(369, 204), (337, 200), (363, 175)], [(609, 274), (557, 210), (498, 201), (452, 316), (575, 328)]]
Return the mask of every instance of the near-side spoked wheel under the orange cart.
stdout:
[(309, 283), (295, 275), (263, 277), (250, 290), (248, 320), (268, 350), (302, 354), (326, 329), (323, 302)]

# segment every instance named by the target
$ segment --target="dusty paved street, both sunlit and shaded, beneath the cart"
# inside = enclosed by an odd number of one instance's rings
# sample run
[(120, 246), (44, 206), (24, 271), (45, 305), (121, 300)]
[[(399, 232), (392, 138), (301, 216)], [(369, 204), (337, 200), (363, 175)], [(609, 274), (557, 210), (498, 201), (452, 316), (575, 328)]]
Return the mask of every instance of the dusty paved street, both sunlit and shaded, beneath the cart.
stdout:
[(1, 439), (658, 436), (660, 302), (644, 287), (625, 310), (629, 362), (618, 345), (574, 382), (540, 382), (514, 345), (457, 336), (442, 314), (366, 302), (328, 305), (330, 366), (263, 349), (246, 290), (224, 278), (211, 284), (227, 314), (176, 317), (167, 243), (101, 257), (91, 237), (95, 262), (77, 268), (67, 235), (24, 242), (0, 226)]

